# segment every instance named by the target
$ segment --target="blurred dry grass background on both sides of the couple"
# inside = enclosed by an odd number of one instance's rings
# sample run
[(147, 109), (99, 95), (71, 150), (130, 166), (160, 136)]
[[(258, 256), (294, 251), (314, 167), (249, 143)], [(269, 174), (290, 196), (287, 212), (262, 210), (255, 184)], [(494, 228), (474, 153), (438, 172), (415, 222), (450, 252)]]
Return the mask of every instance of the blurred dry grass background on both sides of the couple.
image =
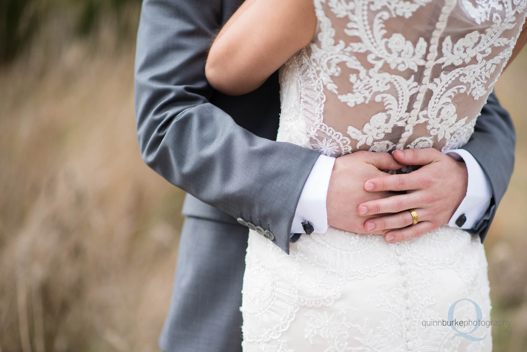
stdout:
[[(184, 193), (140, 158), (139, 4), (10, 1), (23, 6), (15, 43), (0, 40), (0, 352), (159, 350)], [(512, 320), (494, 351), (527, 350), (526, 83), (524, 50), (496, 86), (519, 138), (485, 240), (492, 318)]]

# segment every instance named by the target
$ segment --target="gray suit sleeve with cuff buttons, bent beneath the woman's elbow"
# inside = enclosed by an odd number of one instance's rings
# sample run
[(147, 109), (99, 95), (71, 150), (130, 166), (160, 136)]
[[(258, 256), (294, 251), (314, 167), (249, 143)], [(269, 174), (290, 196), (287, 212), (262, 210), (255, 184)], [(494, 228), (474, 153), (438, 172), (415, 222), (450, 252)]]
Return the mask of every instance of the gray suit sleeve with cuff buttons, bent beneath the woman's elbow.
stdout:
[(221, 25), (219, 0), (144, 0), (135, 58), (142, 158), (170, 183), (231, 216), (289, 232), (319, 153), (260, 138), (209, 102), (204, 66)]

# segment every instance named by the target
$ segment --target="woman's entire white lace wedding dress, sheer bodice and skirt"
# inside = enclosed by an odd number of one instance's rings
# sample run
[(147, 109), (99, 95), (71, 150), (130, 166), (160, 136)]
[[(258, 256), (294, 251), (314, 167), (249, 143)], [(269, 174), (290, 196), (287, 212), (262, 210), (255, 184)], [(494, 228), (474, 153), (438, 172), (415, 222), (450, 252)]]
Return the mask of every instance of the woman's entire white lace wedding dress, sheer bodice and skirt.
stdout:
[[(314, 3), (313, 41), (280, 69), (278, 140), (332, 157), (466, 143), (527, 12), (527, 0)], [(463, 230), (391, 243), (329, 227), (290, 255), (250, 231), (246, 266), (244, 352), (492, 350), (490, 327), (471, 339), (430, 326), (460, 299), (475, 303), (453, 318), (490, 319), (483, 245)]]

